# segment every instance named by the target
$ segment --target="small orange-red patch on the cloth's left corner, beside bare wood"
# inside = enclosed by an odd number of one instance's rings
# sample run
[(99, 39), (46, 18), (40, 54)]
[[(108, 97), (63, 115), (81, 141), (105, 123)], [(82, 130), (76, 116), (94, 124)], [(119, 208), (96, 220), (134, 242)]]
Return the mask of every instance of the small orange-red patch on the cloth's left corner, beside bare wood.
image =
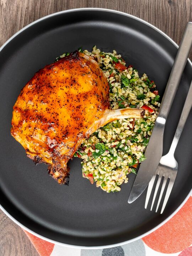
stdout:
[(39, 255), (41, 256), (49, 256), (54, 248), (54, 244), (44, 241), (37, 236), (34, 236), (28, 233), (26, 230), (24, 232), (27, 234), (28, 238), (31, 240), (32, 244), (34, 245), (35, 249), (38, 251)]

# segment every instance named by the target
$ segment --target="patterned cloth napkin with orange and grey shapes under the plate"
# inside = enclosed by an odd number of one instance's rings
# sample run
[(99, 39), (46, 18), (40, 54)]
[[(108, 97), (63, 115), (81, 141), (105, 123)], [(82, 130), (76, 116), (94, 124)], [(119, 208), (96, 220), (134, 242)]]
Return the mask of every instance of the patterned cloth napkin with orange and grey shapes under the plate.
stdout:
[(142, 239), (107, 249), (55, 245), (28, 233), (40, 256), (192, 256), (192, 197), (167, 223)]

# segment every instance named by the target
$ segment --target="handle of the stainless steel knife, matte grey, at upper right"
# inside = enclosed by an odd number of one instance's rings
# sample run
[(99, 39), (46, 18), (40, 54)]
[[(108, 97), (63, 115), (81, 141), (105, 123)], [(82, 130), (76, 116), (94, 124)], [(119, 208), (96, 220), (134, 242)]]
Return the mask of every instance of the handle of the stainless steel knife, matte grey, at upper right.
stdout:
[(192, 22), (188, 22), (183, 33), (182, 41), (178, 49), (172, 71), (159, 109), (159, 117), (167, 119), (172, 102), (174, 100), (181, 75), (185, 68), (187, 57), (192, 46)]

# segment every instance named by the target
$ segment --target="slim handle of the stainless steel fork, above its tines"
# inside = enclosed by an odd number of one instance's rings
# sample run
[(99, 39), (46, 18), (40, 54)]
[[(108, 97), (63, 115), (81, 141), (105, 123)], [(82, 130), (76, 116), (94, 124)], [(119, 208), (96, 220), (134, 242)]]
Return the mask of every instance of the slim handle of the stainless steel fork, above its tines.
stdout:
[(192, 107), (192, 81), (191, 81), (190, 89), (189, 89), (188, 94), (187, 94), (187, 98), (185, 100), (185, 104), (183, 106), (181, 117), (180, 117), (179, 122), (178, 122), (178, 126), (177, 126), (177, 129), (176, 129), (176, 132), (175, 132), (175, 136), (174, 136), (174, 139), (171, 143), (171, 147), (170, 147), (170, 150), (169, 150), (169, 153), (171, 153), (173, 155), (174, 155), (178, 140), (181, 136), (183, 127), (185, 126), (185, 123), (187, 121), (187, 117), (190, 113), (191, 107)]

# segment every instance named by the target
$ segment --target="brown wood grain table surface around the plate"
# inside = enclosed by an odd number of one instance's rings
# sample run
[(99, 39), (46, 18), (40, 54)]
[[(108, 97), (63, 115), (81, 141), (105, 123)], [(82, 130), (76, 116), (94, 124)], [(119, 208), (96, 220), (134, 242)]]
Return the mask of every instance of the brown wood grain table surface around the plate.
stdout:
[[(0, 46), (38, 18), (80, 7), (108, 8), (135, 15), (160, 28), (177, 44), (186, 23), (192, 21), (192, 0), (0, 0)], [(0, 231), (1, 256), (38, 256), (23, 230), (1, 211)]]

